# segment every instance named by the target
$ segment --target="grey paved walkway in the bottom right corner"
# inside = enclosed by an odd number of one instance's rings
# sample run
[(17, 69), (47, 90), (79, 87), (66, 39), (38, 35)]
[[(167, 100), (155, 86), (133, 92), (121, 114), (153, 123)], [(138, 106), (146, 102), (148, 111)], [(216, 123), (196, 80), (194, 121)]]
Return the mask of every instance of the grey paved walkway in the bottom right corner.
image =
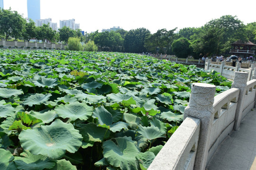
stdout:
[(206, 170), (256, 170), (256, 109), (219, 145)]

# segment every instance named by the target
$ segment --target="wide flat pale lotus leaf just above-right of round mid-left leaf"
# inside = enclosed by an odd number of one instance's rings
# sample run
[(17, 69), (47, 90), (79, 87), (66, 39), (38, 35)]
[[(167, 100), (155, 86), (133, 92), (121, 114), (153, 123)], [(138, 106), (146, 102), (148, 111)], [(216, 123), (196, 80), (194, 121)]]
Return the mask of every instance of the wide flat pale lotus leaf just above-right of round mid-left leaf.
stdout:
[(106, 97), (103, 95), (91, 95), (91, 94), (75, 94), (75, 97), (77, 100), (82, 101), (85, 100), (85, 102), (89, 104), (93, 103), (101, 103), (101, 102), (106, 102)]

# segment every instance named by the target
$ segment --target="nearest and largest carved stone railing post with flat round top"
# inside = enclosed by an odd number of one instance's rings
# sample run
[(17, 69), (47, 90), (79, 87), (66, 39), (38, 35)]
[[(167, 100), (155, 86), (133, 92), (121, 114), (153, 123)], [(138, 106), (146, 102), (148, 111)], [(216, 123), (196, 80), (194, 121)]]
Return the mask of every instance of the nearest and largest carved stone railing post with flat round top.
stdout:
[(214, 119), (215, 85), (193, 83), (189, 105), (185, 108), (184, 119), (188, 116), (201, 120), (198, 149), (194, 170), (204, 170), (210, 145), (210, 130)]

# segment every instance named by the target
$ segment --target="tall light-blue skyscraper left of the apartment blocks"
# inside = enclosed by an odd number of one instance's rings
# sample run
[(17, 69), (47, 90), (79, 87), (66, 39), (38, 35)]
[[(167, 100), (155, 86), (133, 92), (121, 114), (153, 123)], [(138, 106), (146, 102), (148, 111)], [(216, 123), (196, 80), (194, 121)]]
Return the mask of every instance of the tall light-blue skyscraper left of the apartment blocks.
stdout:
[(40, 0), (27, 0), (27, 17), (34, 22), (40, 19)]

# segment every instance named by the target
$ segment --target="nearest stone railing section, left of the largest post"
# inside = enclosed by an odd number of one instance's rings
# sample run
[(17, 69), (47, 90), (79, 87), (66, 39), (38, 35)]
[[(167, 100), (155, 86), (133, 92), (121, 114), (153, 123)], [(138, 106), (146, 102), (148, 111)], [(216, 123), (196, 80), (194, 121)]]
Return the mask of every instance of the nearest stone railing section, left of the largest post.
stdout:
[(193, 170), (199, 131), (200, 119), (187, 117), (147, 170)]

